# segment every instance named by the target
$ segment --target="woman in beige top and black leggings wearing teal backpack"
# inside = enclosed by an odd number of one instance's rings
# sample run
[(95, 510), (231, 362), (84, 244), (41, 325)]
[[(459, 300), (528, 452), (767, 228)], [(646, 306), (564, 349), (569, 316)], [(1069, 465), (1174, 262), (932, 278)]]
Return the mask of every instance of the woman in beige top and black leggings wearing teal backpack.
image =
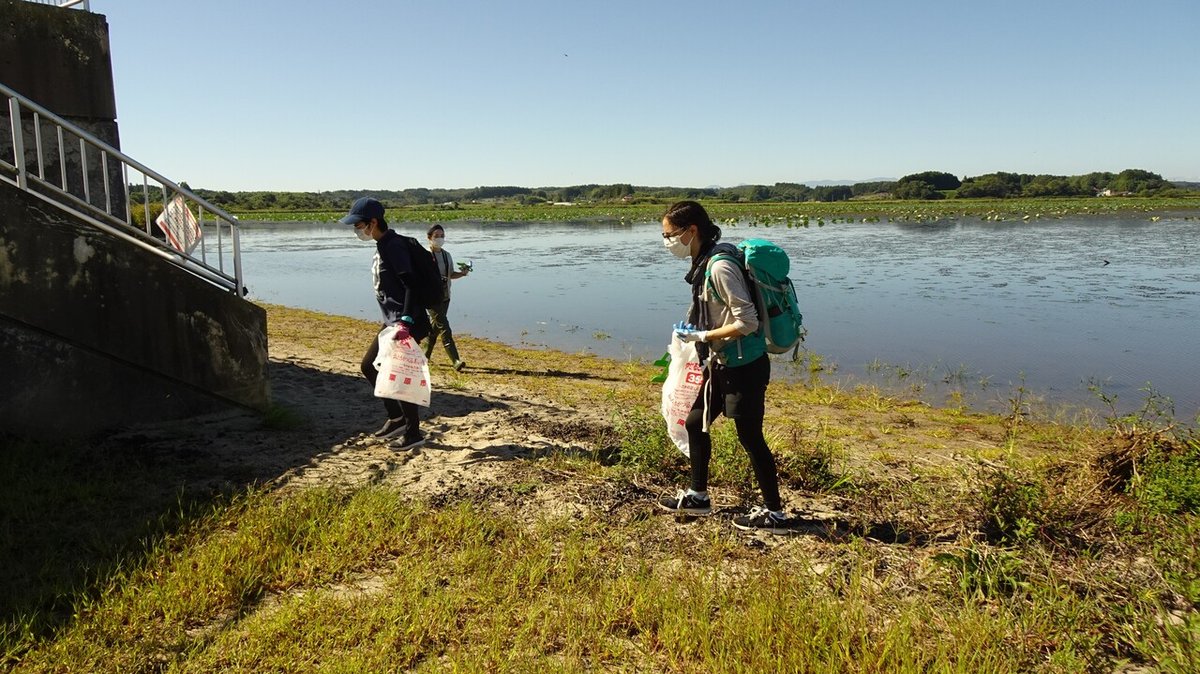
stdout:
[(758, 312), (744, 271), (728, 259), (710, 259), (716, 254), (740, 257), (737, 247), (721, 243), (721, 228), (713, 224), (702, 205), (678, 201), (662, 216), (662, 241), (677, 258), (691, 263), (684, 277), (691, 285), (688, 321), (676, 325), (674, 335), (695, 342), (704, 380), (688, 415), (688, 446), (691, 459), (691, 485), (674, 497), (664, 497), (659, 505), (683, 514), (709, 514), (708, 464), (713, 443), (708, 426), (724, 414), (733, 420), (738, 441), (750, 455), (763, 505), (733, 519), (745, 530), (791, 532), (792, 523), (779, 497), (775, 457), (762, 433), (766, 413), (770, 360), (758, 333)]

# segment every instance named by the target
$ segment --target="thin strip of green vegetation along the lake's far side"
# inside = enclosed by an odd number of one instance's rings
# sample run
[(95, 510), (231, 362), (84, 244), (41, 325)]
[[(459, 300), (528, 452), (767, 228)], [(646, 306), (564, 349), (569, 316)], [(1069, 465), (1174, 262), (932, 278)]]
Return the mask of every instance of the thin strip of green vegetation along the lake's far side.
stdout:
[[(522, 222), (617, 219), (625, 222), (658, 221), (667, 203), (638, 204), (462, 204), (457, 207), (398, 206), (388, 210), (395, 222)], [(881, 222), (920, 222), (942, 218), (1052, 219), (1079, 215), (1183, 212), (1182, 217), (1200, 217), (1200, 198), (1040, 198), (1040, 199), (946, 199), (940, 201), (862, 200), (805, 203), (728, 203), (704, 201), (713, 217), (743, 219), (762, 225), (809, 227), (844, 218)], [(332, 222), (340, 211), (240, 211), (245, 221)]]

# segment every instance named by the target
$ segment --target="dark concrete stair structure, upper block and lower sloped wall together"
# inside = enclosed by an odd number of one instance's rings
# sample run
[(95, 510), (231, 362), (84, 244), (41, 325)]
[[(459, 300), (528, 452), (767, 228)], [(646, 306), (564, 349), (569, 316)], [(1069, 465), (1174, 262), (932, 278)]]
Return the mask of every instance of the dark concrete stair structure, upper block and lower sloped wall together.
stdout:
[[(103, 16), (0, 0), (0, 82), (120, 148)], [(10, 124), (7, 107), (0, 118)], [(0, 157), (12, 161), (8, 136)], [(36, 162), (32, 139), (25, 118)], [(82, 197), (78, 143), (65, 145), (66, 188)], [(56, 148), (43, 154), (47, 180), (60, 180)], [(86, 161), (102, 207), (98, 157)], [(262, 308), (0, 181), (0, 434), (86, 435), (233, 404), (269, 404)]]

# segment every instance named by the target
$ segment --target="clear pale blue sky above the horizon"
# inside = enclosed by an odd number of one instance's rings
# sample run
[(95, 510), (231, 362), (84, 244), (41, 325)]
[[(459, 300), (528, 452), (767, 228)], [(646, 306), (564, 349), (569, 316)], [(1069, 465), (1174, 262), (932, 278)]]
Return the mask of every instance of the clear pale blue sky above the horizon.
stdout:
[(122, 149), (212, 189), (1200, 180), (1200, 1), (91, 0)]

